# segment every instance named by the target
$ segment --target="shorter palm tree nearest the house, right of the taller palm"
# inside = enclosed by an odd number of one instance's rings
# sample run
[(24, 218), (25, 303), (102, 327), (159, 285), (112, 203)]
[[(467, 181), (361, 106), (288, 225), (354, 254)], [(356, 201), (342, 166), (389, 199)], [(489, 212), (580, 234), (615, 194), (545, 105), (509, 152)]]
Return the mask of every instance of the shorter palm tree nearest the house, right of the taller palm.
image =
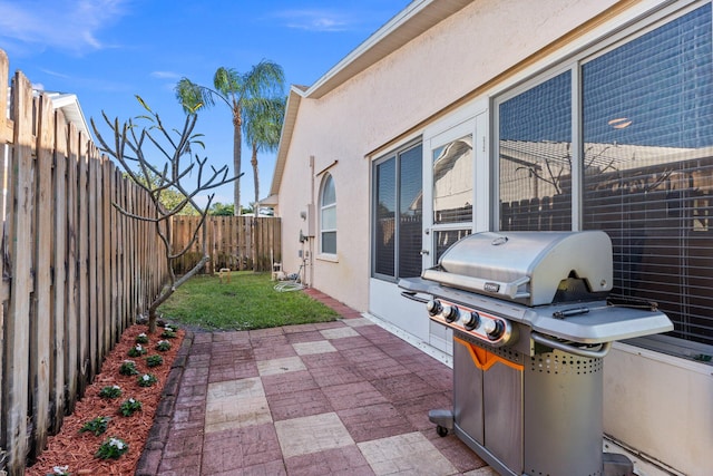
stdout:
[(255, 186), (255, 216), (260, 213), (260, 177), (257, 175), (257, 153), (274, 152), (280, 145), (280, 134), (285, 115), (286, 97), (276, 97), (266, 101), (253, 103), (245, 108), (243, 128), (245, 138), (252, 147), (251, 165)]

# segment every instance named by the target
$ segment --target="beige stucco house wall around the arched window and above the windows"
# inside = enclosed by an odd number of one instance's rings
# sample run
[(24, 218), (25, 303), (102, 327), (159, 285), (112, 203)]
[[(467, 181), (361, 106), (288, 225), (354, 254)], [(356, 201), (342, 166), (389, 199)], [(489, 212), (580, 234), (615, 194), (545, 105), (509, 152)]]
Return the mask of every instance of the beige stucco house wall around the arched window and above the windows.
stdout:
[[(312, 182), (310, 156), (314, 156), (314, 173), (339, 161), (329, 169), (338, 200), (338, 260), (313, 255), (309, 283), (368, 310), (371, 164), (365, 155), (395, 138), (418, 136), (419, 125), (428, 124), (430, 117), (612, 3), (475, 1), (321, 99), (304, 98), (280, 187), (284, 269), (299, 269), (297, 236), (301, 229), (306, 232), (300, 212), (312, 196), (319, 231), (322, 176)], [(315, 240), (315, 254), (316, 246)]]

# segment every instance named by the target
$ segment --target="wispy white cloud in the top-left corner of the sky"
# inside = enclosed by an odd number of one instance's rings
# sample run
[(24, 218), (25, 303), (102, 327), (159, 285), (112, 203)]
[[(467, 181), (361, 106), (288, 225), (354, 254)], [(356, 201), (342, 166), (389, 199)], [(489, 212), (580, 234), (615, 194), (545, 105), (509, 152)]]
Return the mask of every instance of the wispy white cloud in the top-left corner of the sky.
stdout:
[(128, 0), (0, 0), (0, 39), (74, 54), (106, 48), (97, 33)]

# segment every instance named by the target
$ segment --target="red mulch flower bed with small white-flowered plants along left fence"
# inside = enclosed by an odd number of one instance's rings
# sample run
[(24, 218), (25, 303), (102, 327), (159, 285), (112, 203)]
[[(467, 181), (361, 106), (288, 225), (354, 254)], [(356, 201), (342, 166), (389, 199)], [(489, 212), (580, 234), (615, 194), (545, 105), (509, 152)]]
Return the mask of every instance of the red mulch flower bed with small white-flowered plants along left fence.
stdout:
[[(157, 328), (154, 334), (148, 334), (146, 326), (137, 324), (124, 332), (120, 341), (105, 359), (101, 372), (96, 376), (94, 382), (87, 388), (84, 398), (77, 402), (74, 414), (65, 417), (60, 433), (48, 438), (47, 449), (27, 469), (27, 476), (58, 475), (62, 474), (62, 470), (65, 474), (71, 474), (72, 476), (124, 476), (135, 473), (154, 422), (154, 415), (170, 371), (170, 366), (185, 336), (185, 331), (178, 330), (175, 332), (176, 336), (174, 338), (164, 338), (160, 337), (163, 331), (163, 328)], [(146, 341), (146, 338), (139, 334), (147, 334), (148, 342), (140, 343), (146, 352), (139, 357), (129, 357), (129, 350), (136, 349), (138, 344), (137, 338), (138, 342)], [(156, 350), (159, 341), (168, 341), (170, 349), (166, 351)], [(149, 367), (147, 358), (156, 354), (163, 358), (163, 363)], [(135, 363), (138, 373), (121, 375), (119, 369), (127, 363), (127, 360)], [(155, 363), (158, 359), (153, 360)], [(155, 377), (156, 383), (147, 385), (150, 378), (145, 376)], [(105, 389), (104, 395), (118, 392), (116, 386), (120, 389), (118, 397), (108, 398), (99, 395), (102, 389)], [(107, 391), (110, 389), (114, 389), (114, 391)], [(129, 399), (133, 400), (129, 401)], [(120, 408), (123, 404), (126, 409), (129, 406), (136, 407), (136, 401), (140, 402), (140, 409), (133, 411), (130, 416), (121, 415)], [(86, 424), (99, 417), (108, 417), (109, 419), (104, 433), (95, 435), (92, 430), (85, 429), (85, 431), (80, 431)], [(95, 428), (92, 425), (89, 425), (89, 427)], [(111, 438), (115, 439), (111, 440)], [(121, 445), (117, 441), (128, 445), (128, 450), (117, 459), (100, 459), (96, 456), (102, 444), (119, 445), (120, 447)]]

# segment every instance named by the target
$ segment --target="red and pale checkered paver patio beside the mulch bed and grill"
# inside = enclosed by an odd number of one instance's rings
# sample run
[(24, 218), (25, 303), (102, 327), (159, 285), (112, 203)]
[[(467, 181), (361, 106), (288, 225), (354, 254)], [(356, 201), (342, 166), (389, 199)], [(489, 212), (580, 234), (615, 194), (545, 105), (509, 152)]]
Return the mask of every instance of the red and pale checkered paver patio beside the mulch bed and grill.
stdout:
[(137, 475), (495, 475), (428, 420), (447, 366), (307, 292), (342, 319), (186, 337)]

